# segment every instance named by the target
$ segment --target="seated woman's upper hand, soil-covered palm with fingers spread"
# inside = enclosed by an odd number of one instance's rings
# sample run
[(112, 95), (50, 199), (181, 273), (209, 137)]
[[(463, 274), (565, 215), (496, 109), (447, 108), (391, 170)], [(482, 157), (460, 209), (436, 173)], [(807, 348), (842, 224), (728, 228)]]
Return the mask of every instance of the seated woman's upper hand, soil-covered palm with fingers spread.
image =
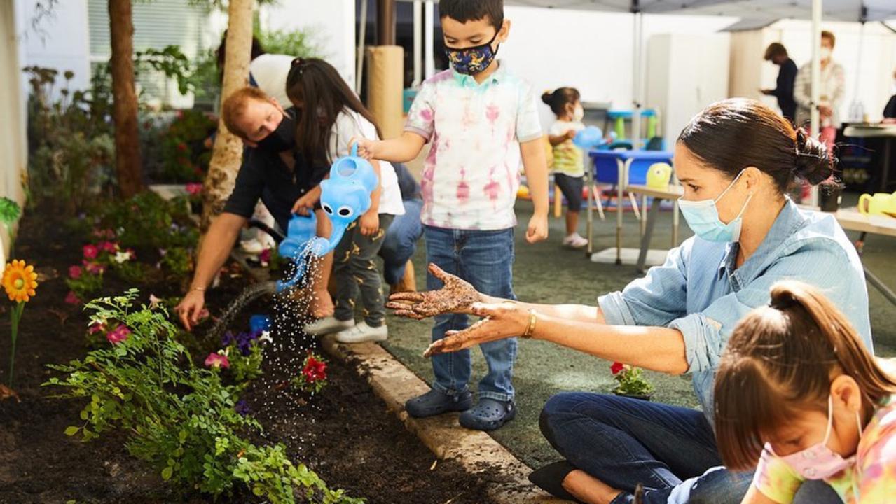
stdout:
[(400, 317), (422, 320), (442, 313), (470, 313), (474, 303), (482, 301), (482, 295), (469, 282), (430, 263), (429, 273), (442, 280), (444, 286), (426, 292), (400, 292), (389, 296), (387, 308)]

